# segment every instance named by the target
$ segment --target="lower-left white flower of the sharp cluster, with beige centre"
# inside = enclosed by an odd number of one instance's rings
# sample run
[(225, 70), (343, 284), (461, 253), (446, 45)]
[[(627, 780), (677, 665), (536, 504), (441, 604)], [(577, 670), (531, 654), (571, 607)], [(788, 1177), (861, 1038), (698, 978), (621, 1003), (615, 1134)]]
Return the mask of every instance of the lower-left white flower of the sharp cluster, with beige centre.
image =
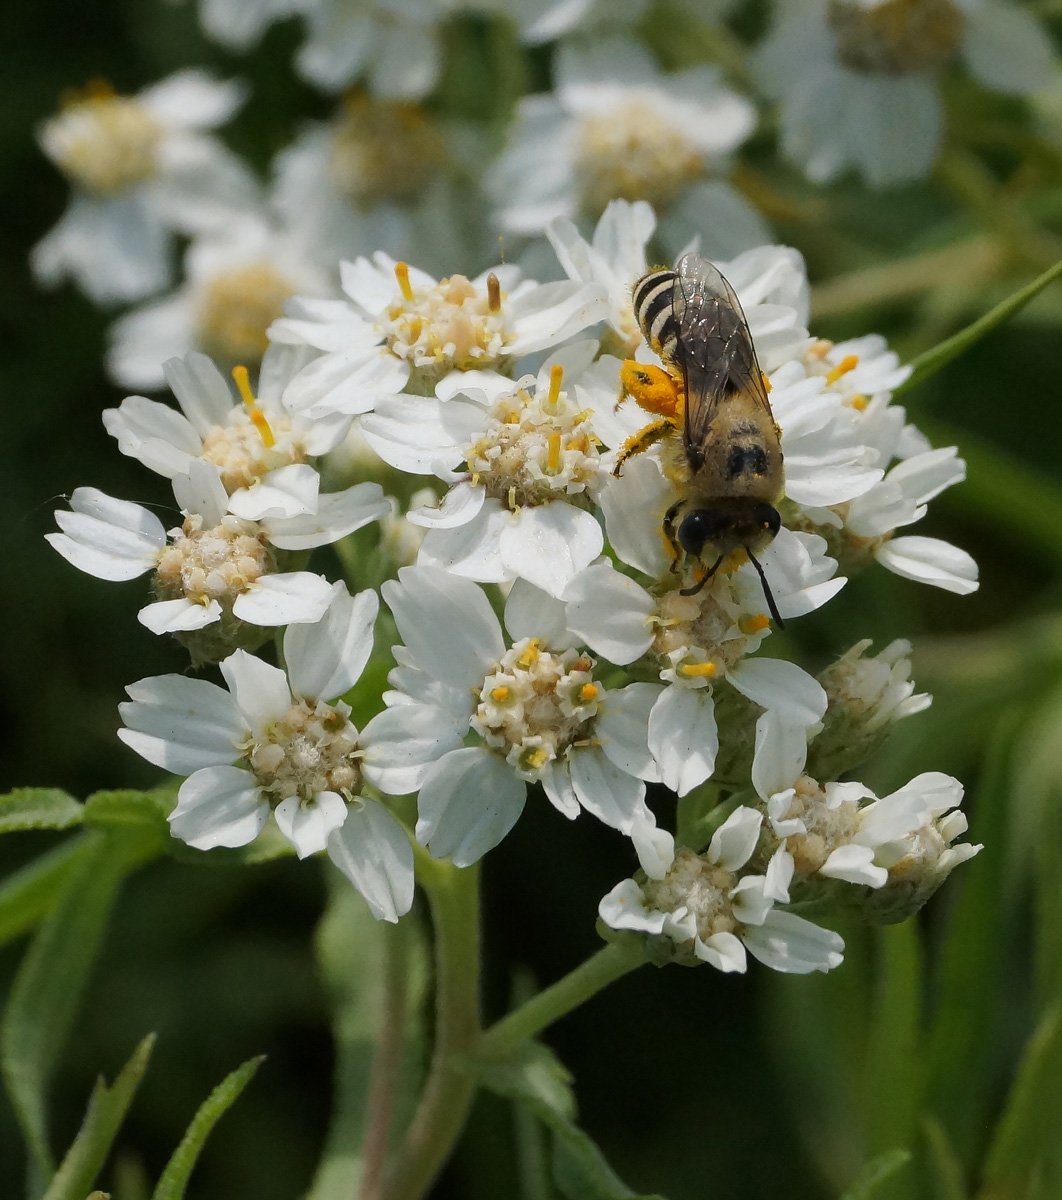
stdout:
[(187, 775), (170, 832), (197, 850), (246, 846), (270, 815), (300, 858), (329, 858), (380, 920), (413, 904), (413, 851), (398, 821), (360, 796), (371, 743), (340, 698), (372, 652), (374, 592), (329, 588), (320, 619), (284, 634), (287, 673), (236, 650), (227, 685), (156, 676), (127, 688), (118, 736), (156, 767)]

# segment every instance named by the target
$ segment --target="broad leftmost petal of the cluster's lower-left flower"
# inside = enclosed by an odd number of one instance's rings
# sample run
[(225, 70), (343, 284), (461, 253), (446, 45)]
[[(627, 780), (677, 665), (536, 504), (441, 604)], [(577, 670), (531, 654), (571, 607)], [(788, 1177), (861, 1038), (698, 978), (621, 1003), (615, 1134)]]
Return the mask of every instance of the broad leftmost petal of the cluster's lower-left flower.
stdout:
[(152, 676), (126, 692), (130, 701), (118, 706), (126, 726), (119, 738), (175, 775), (233, 763), (251, 733), (233, 697), (205, 679)]

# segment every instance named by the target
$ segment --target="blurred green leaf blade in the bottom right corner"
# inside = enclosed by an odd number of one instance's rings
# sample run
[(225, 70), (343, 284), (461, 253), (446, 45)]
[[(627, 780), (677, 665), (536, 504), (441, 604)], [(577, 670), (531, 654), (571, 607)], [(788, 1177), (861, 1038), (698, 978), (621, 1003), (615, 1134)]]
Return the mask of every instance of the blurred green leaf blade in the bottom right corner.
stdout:
[(985, 1160), (986, 1193), (1024, 1195), (1044, 1159), (1057, 1152), (1060, 1112), (1062, 1006), (1044, 1016), (1025, 1048)]

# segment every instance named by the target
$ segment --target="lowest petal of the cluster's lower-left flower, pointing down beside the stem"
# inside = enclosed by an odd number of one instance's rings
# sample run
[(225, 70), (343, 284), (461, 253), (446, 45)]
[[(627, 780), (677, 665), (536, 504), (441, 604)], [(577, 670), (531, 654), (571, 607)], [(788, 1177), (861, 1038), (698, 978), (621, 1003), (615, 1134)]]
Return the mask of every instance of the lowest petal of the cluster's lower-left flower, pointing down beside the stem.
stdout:
[(328, 854), (377, 920), (396, 922), (413, 907), (413, 847), (382, 804), (362, 800), (352, 809), (329, 838)]

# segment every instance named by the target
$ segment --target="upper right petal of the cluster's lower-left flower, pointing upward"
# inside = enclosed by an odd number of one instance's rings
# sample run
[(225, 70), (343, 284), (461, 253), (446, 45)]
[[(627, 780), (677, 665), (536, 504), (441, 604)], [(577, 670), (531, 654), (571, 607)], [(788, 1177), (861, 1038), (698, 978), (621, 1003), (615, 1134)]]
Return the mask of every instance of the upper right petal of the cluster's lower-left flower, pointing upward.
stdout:
[(284, 662), (296, 696), (330, 701), (358, 683), (372, 653), (378, 612), (376, 592), (352, 596), (342, 583), (334, 583), (331, 602), (320, 620), (288, 626)]

